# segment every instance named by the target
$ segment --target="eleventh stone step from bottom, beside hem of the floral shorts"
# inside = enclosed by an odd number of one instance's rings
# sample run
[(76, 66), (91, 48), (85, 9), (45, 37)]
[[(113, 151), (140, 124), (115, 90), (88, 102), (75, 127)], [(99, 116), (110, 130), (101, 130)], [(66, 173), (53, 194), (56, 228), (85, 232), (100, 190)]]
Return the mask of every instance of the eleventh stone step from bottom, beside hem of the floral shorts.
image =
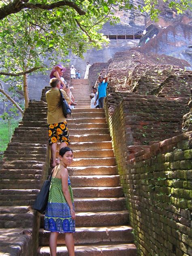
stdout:
[(70, 135), (70, 142), (94, 142), (94, 141), (111, 141), (109, 134), (86, 134), (86, 135)]

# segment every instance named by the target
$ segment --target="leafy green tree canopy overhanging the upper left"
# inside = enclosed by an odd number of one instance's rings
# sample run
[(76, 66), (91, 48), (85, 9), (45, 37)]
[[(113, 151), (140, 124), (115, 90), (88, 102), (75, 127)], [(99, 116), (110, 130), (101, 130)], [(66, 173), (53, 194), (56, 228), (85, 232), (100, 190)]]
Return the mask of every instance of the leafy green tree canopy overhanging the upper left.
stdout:
[[(2, 0), (0, 79), (21, 89), (22, 76), (27, 107), (28, 73), (43, 70), (45, 60), (49, 65), (58, 59), (64, 62), (70, 50), (82, 57), (90, 47), (101, 49), (108, 41), (99, 30), (107, 21), (119, 22), (116, 10), (138, 8), (157, 19), (160, 1), (144, 0), (134, 6), (130, 0)], [(169, 7), (182, 13), (191, 8), (190, 0), (169, 1)]]

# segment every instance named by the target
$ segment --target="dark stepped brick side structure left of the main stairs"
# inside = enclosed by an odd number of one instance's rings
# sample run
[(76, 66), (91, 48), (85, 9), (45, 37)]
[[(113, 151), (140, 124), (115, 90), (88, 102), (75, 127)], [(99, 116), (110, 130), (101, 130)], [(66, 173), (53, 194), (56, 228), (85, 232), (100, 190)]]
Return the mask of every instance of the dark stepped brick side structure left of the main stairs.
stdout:
[(46, 116), (45, 102), (30, 102), (4, 152), (0, 170), (0, 255), (32, 256), (36, 250), (38, 216), (32, 205), (48, 167)]

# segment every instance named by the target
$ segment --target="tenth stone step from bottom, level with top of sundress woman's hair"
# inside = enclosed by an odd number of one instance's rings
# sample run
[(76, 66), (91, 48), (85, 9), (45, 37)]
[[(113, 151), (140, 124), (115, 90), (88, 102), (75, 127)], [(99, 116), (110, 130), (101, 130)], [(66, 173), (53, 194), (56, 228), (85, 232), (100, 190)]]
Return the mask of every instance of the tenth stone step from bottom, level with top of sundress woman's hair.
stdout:
[[(71, 142), (69, 147), (71, 147), (73, 150), (112, 149), (112, 144), (111, 141)], [(59, 144), (57, 145), (57, 150), (59, 150)]]

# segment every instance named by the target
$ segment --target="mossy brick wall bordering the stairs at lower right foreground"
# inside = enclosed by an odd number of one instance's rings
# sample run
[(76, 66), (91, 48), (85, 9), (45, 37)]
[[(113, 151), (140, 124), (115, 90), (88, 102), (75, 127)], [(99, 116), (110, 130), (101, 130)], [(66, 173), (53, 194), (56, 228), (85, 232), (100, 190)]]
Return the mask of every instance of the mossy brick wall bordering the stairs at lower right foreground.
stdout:
[(107, 122), (139, 255), (192, 255), (192, 132), (131, 154), (135, 146), (125, 102), (114, 113), (108, 103)]

